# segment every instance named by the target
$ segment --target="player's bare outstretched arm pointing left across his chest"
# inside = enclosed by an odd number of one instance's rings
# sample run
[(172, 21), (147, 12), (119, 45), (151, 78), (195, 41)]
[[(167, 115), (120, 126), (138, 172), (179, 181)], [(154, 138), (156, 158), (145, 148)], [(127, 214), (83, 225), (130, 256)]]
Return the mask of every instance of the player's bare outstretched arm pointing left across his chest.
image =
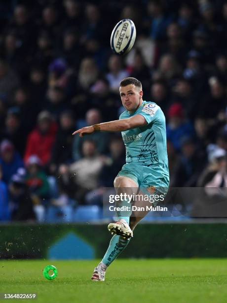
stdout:
[(92, 134), (95, 131), (123, 132), (128, 129), (145, 126), (146, 124), (148, 124), (148, 122), (142, 115), (135, 115), (127, 119), (115, 120), (115, 121), (104, 122), (92, 126), (83, 127), (75, 131), (73, 135), (79, 134), (80, 137), (83, 137), (83, 135)]

